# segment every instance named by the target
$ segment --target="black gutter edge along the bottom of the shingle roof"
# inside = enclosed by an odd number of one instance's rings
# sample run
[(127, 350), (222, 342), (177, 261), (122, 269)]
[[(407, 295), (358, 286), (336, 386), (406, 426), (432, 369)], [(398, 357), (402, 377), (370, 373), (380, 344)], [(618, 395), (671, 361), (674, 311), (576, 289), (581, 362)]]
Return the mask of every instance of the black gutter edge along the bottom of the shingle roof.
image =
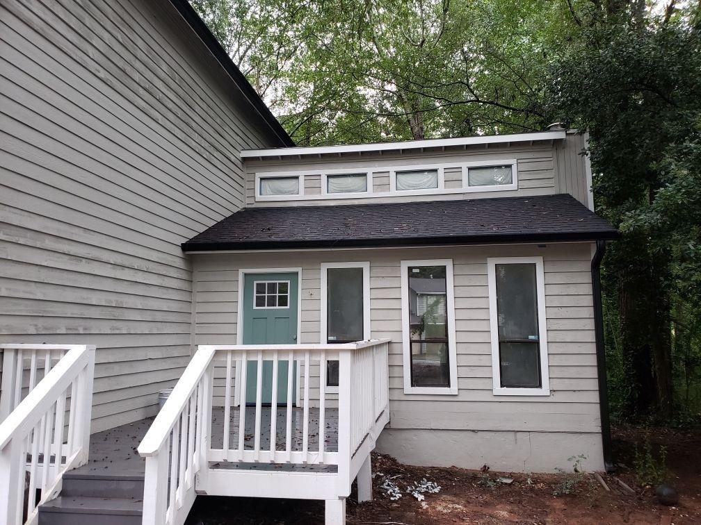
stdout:
[(211, 241), (184, 242), (185, 253), (203, 251), (250, 251), (250, 250), (292, 250), (323, 248), (396, 248), (401, 246), (444, 246), (450, 244), (505, 244), (536, 242), (610, 241), (620, 237), (611, 230), (600, 232), (562, 233), (505, 233), (489, 235), (451, 235), (447, 237), (402, 237), (390, 239), (337, 239), (337, 240), (285, 240), (285, 241)]

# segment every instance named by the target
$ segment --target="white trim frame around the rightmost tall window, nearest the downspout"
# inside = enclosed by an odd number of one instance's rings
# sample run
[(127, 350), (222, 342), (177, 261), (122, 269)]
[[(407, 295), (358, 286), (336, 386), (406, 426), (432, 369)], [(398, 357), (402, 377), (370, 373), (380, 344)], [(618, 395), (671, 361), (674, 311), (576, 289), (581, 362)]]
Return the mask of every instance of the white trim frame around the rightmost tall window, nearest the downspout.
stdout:
[[(499, 360), (499, 326), (496, 306), (496, 265), (536, 265), (538, 297), (538, 346), (540, 351), (540, 388), (505, 388), (501, 386)], [(547, 365), (547, 318), (545, 316), (545, 270), (542, 257), (488, 257), (486, 258), (489, 285), (489, 329), (491, 332), (491, 372), (494, 395), (550, 395), (550, 374)]]

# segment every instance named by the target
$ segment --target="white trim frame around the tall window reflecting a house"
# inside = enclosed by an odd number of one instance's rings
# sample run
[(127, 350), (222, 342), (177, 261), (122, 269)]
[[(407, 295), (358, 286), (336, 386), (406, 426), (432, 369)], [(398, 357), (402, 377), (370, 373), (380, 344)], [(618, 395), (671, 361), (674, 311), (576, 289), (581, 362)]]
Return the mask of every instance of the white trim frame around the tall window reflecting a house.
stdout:
[[(448, 315), (448, 362), (450, 386), (411, 386), (411, 334), (409, 327), (409, 267), (410, 266), (444, 266), (446, 288), (446, 310)], [(421, 259), (400, 261), (402, 272), (402, 356), (404, 364), (405, 394), (457, 395), (458, 393), (458, 355), (455, 331), (455, 297), (453, 289), (452, 259)]]

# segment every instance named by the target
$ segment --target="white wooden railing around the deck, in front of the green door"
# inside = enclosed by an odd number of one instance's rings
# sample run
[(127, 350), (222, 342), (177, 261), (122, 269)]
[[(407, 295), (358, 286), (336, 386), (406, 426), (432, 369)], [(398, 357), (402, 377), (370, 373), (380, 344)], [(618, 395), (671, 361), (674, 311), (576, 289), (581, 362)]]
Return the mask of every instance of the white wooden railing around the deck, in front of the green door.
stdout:
[[(210, 463), (330, 465), (336, 467), (332, 491), (347, 496), (374, 447), (374, 429), (388, 421), (388, 342), (199, 346), (139, 445), (147, 462), (143, 523), (184, 523), (196, 489), (236, 495), (236, 487), (207, 482), (215, 470)], [(339, 361), (337, 394), (325, 386), (330, 360)], [(264, 407), (264, 396), (286, 402)], [(327, 435), (329, 409), (337, 409), (336, 446), (335, 435)], [(355, 456), (362, 454), (359, 463)]]

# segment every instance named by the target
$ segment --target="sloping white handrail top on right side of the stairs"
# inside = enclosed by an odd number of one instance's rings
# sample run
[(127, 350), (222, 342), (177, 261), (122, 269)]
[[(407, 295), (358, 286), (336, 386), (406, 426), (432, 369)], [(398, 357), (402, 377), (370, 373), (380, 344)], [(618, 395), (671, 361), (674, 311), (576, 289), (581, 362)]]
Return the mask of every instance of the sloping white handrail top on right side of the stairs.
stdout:
[(196, 351), (177, 384), (175, 384), (172, 393), (168, 395), (165, 405), (158, 412), (156, 419), (151, 423), (149, 431), (139, 444), (137, 448), (139, 456), (148, 458), (158, 453), (214, 356), (215, 349), (213, 346), (199, 346), (198, 351)]

